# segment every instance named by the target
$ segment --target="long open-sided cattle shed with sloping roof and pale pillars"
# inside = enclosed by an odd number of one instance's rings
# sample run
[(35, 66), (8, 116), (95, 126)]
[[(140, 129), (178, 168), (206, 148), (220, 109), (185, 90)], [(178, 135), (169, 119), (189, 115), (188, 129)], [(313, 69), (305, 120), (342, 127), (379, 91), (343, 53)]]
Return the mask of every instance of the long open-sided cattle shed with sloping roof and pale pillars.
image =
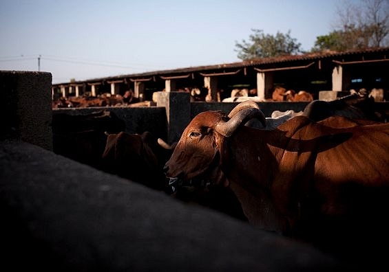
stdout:
[(107, 78), (53, 84), (56, 96), (85, 93), (121, 94), (132, 89), (140, 100), (151, 100), (156, 91), (198, 88), (209, 92), (214, 101), (231, 95), (233, 89), (257, 89), (260, 99), (271, 98), (277, 87), (308, 91), (319, 99), (320, 91), (383, 89), (388, 100), (389, 48), (346, 52), (317, 52), (297, 56), (261, 58), (238, 63), (134, 73)]

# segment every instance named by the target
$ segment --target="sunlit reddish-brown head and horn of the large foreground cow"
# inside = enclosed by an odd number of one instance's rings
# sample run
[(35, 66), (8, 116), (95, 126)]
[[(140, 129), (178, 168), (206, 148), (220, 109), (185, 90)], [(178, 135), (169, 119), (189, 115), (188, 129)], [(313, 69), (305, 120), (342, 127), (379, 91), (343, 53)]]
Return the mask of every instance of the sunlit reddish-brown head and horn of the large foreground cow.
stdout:
[[(231, 117), (231, 119), (230, 119)], [(258, 118), (265, 125), (260, 109), (243, 107), (227, 116), (222, 111), (198, 114), (182, 133), (180, 141), (165, 164), (167, 177), (188, 181), (209, 179), (211, 183), (228, 185), (224, 177), (224, 161), (229, 156), (228, 139), (248, 120)]]

